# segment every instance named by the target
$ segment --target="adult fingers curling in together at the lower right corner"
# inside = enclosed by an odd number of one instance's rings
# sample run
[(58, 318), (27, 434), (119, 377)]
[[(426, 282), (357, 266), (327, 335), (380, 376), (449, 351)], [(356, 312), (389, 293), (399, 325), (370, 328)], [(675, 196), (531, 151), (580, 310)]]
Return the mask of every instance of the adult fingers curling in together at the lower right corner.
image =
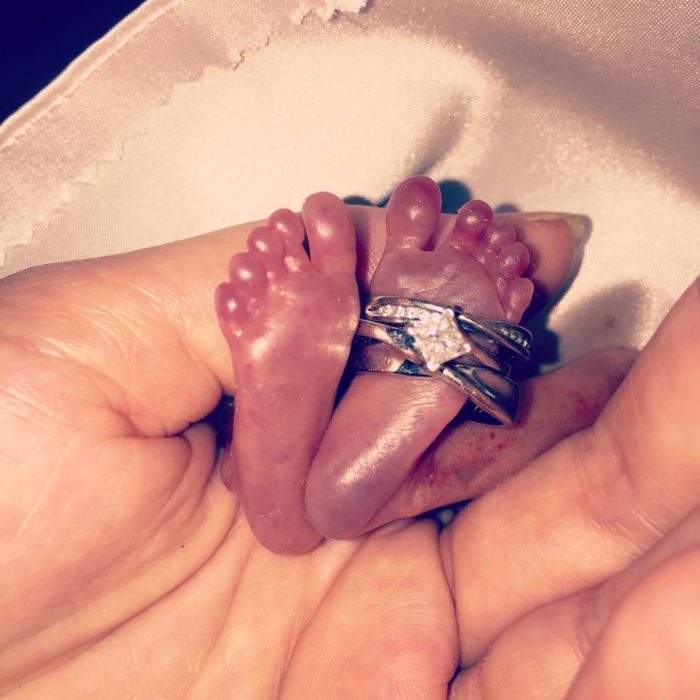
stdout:
[(446, 530), (452, 698), (561, 698), (577, 673), (572, 700), (700, 697), (699, 342), (696, 280), (592, 428)]

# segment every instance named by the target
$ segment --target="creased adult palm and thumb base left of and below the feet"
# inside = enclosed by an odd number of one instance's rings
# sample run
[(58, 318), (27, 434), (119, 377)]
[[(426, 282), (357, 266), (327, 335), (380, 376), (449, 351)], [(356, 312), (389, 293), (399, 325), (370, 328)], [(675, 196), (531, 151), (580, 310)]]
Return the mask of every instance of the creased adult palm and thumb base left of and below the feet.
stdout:
[(199, 421), (232, 389), (211, 294), (244, 236), (0, 285), (9, 697), (442, 697), (458, 624), (469, 658), (467, 555), (443, 548), (455, 616), (429, 521), (279, 557), (222, 486)]

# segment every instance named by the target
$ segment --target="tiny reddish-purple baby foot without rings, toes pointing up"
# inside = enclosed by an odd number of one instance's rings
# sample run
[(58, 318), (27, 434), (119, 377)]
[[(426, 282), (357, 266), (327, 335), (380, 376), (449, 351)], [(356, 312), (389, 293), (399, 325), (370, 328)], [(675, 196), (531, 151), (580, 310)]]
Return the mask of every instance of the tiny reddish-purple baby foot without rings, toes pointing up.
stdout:
[[(257, 538), (298, 553), (320, 539), (303, 485), (330, 419), (359, 315), (355, 230), (345, 204), (319, 193), (302, 220), (279, 210), (253, 230), (216, 292), (237, 382), (237, 489)], [(304, 230), (310, 256), (304, 250)]]

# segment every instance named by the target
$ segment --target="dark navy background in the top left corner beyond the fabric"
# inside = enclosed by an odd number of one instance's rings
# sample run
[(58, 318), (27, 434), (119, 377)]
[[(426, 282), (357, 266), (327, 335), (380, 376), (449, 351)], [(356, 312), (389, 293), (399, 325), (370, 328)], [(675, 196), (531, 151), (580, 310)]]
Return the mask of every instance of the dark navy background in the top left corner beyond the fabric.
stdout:
[(143, 0), (0, 0), (0, 123)]

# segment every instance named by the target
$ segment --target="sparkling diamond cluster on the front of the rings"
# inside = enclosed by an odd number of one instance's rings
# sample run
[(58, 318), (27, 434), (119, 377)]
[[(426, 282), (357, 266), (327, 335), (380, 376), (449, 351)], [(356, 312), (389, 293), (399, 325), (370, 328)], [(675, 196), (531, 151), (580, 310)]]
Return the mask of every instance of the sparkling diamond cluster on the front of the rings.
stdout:
[(413, 338), (413, 347), (430, 372), (435, 372), (445, 362), (463, 355), (466, 350), (467, 341), (452, 309), (429, 311), (386, 304), (373, 309), (373, 315), (405, 319), (407, 323), (404, 329)]

